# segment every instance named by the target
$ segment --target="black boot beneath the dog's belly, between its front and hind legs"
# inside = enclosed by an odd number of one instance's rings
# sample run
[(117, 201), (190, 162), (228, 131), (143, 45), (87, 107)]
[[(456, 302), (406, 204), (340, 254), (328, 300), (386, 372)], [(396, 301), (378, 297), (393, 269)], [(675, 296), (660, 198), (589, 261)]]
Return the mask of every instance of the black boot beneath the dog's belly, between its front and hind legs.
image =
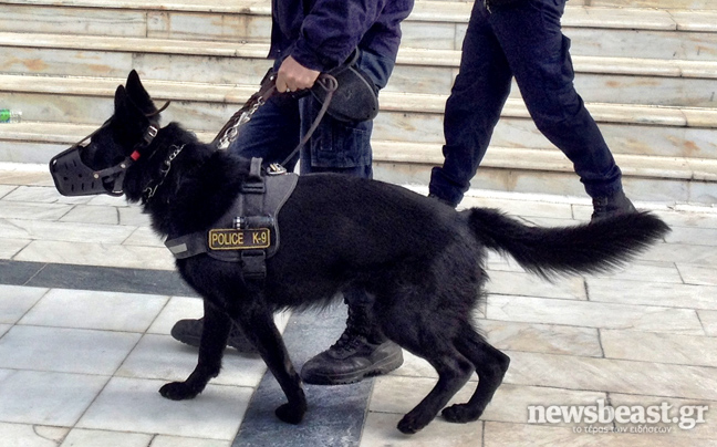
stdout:
[(346, 330), (341, 339), (301, 368), (301, 378), (313, 385), (343, 385), (386, 374), (403, 364), (403, 350), (392, 341), (372, 343)]

